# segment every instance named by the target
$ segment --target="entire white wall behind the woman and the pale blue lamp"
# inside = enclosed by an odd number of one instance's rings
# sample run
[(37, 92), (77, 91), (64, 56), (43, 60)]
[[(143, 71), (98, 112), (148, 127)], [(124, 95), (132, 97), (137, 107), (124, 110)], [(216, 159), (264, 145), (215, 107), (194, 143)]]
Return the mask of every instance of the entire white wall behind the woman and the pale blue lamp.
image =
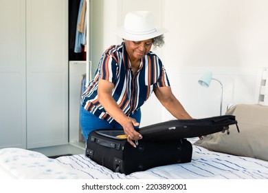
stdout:
[[(173, 92), (194, 118), (219, 115), (220, 85), (212, 81), (210, 88), (202, 88), (197, 83), (208, 70), (223, 83), (223, 113), (228, 103), (257, 102), (260, 69), (268, 66), (268, 1), (102, 1), (103, 48), (120, 42), (113, 32), (131, 10), (150, 10), (157, 26), (169, 30), (157, 54)], [(143, 125), (173, 119), (154, 97), (142, 112)]]

